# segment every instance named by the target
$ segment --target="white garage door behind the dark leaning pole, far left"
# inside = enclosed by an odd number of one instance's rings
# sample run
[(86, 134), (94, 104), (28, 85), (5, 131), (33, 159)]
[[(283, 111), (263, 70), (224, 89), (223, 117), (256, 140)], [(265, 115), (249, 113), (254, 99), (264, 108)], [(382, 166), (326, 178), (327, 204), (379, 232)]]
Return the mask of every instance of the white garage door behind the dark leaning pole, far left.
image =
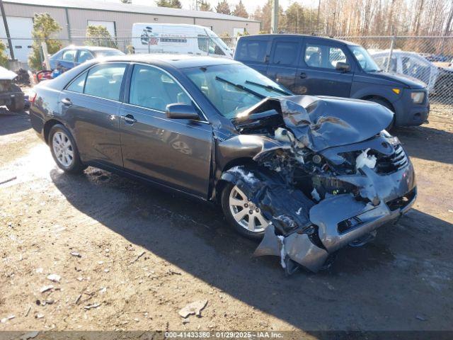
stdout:
[[(14, 57), (20, 62), (28, 61), (28, 54), (31, 52), (31, 45), (33, 40), (31, 38), (31, 32), (33, 30), (33, 18), (25, 18), (21, 16), (6, 16), (8, 22), (9, 33), (11, 38), (23, 38), (23, 39), (11, 39), (14, 49)], [(6, 37), (5, 27), (3, 21), (0, 21), (0, 36)], [(8, 40), (3, 39), (5, 45), (8, 45)], [(9, 49), (6, 49), (9, 55)]]

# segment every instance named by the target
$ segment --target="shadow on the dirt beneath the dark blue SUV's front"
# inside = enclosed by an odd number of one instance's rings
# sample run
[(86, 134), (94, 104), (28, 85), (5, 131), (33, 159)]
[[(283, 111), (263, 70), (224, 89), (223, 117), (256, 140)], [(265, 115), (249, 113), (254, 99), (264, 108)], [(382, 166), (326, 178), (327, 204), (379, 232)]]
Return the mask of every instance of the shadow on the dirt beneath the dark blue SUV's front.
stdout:
[(445, 152), (445, 146), (453, 143), (452, 132), (422, 125), (413, 128), (394, 129), (391, 133), (398, 136), (403, 142), (409, 156), (453, 164), (453, 154)]

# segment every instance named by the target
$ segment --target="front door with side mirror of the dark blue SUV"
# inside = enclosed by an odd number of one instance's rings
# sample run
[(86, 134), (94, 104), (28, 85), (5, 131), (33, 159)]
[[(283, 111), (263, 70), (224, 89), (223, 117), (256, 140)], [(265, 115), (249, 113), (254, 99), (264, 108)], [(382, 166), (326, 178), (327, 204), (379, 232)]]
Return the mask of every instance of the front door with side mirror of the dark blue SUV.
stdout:
[[(348, 62), (350, 71), (336, 69), (337, 62)], [(343, 45), (305, 38), (294, 93), (349, 97), (353, 71), (354, 65)]]

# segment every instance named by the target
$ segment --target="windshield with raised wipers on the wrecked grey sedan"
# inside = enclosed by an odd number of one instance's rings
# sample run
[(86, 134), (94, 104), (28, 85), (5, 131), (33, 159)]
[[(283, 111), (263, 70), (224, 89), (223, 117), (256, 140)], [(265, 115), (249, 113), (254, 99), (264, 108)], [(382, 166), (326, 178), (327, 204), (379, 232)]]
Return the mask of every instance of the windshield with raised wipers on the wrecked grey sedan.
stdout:
[(265, 97), (291, 95), (285, 87), (243, 64), (190, 67), (183, 72), (229, 119), (236, 118)]

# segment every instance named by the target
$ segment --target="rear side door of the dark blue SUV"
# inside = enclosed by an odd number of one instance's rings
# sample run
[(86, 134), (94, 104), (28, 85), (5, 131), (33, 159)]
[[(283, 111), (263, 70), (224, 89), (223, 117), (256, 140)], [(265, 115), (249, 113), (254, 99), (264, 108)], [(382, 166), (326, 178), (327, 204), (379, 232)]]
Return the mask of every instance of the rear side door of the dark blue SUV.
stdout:
[(268, 77), (291, 91), (294, 90), (301, 41), (301, 38), (275, 38), (272, 45)]

